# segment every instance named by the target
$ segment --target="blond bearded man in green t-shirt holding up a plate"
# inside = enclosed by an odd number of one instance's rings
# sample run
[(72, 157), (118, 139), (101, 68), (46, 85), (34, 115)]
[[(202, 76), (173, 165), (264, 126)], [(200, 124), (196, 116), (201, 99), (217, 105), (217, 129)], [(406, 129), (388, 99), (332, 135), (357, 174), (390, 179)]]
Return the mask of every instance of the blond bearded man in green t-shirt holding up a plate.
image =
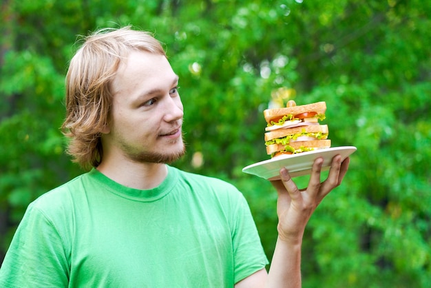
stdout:
[(67, 72), (74, 161), (91, 171), (30, 204), (0, 270), (1, 287), (300, 287), (302, 236), (348, 169), (322, 158), (299, 191), (273, 181), (279, 236), (269, 273), (249, 207), (218, 179), (167, 165), (185, 152), (178, 76), (149, 34), (87, 37)]

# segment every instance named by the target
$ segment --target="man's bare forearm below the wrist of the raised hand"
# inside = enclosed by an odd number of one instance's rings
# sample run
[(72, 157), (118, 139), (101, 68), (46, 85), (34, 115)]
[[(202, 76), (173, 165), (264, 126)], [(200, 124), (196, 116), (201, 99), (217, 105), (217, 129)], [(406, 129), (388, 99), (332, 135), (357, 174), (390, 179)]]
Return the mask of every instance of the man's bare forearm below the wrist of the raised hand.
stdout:
[(277, 238), (266, 287), (301, 287), (302, 240), (296, 242)]

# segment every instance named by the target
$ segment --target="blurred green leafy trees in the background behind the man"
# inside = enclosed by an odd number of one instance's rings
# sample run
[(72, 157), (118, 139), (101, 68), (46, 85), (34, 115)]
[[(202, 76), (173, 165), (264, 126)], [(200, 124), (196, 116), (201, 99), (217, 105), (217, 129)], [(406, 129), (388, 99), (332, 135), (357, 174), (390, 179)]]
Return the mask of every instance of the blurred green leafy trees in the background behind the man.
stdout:
[(430, 15), (419, 0), (3, 0), (0, 263), (30, 201), (83, 173), (59, 130), (78, 35), (133, 25), (180, 75), (188, 152), (175, 165), (241, 189), (270, 259), (276, 194), (242, 167), (268, 158), (271, 101), (326, 101), (333, 146), (358, 150), (306, 229), (304, 287), (428, 287)]

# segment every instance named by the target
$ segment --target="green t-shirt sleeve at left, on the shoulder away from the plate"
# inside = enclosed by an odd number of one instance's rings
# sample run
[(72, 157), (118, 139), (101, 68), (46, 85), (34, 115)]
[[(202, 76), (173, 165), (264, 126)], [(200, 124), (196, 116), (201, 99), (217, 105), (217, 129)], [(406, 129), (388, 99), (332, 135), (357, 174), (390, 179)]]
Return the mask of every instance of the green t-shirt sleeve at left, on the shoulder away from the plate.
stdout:
[(0, 269), (0, 287), (67, 287), (68, 265), (52, 222), (30, 205)]

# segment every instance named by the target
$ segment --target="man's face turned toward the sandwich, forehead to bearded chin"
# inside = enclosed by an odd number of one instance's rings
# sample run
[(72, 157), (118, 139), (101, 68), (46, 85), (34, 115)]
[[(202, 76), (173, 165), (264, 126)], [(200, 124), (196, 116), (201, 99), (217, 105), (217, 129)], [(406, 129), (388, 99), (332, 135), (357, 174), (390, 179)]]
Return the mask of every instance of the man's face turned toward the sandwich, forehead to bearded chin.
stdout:
[(170, 163), (185, 153), (178, 76), (166, 57), (134, 51), (112, 83), (103, 154), (138, 163)]

